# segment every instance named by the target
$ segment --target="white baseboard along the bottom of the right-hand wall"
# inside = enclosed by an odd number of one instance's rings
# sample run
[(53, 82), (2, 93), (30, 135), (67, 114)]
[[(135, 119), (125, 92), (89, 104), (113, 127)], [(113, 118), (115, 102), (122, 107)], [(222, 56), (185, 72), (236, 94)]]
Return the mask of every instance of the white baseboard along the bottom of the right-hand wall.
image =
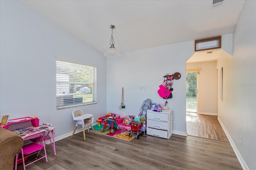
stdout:
[(218, 117), (218, 121), (220, 122), (220, 125), (223, 129), (223, 131), (225, 132), (226, 136), (228, 137), (228, 140), (230, 142), (231, 147), (233, 148), (236, 157), (238, 158), (243, 170), (249, 170), (248, 166), (246, 165), (246, 163), (244, 162), (243, 157), (241, 156), (240, 152), (238, 151), (238, 149), (236, 148), (236, 145), (234, 143), (234, 141), (232, 140), (232, 138), (230, 137), (230, 135), (228, 134), (228, 131), (226, 130), (226, 128), (224, 127), (222, 121), (220, 120), (220, 118)]

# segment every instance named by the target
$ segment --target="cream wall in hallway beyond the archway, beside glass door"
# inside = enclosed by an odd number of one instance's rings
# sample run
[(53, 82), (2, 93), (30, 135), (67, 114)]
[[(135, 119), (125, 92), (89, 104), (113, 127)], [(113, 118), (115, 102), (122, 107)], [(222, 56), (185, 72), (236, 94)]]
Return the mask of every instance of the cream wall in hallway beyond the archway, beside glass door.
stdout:
[[(205, 57), (208, 57), (208, 54)], [(201, 68), (200, 74), (197, 74), (198, 113), (218, 114), (218, 70), (216, 66), (216, 61), (186, 64), (186, 68)]]

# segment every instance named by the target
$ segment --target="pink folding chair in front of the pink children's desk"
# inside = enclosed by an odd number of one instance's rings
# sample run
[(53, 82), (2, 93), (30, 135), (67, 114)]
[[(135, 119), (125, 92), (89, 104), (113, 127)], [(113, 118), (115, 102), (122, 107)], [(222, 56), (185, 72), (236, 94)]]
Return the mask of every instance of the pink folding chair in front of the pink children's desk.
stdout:
[[(45, 132), (46, 131), (39, 131), (39, 132), (31, 133), (29, 135), (24, 136), (23, 140), (25, 141), (25, 140), (29, 140), (29, 139), (34, 139), (36, 137), (40, 137), (41, 135), (44, 136)], [(38, 158), (38, 155), (39, 155), (39, 153), (40, 153), (42, 148), (44, 148), (44, 156)], [(44, 140), (42, 140), (42, 143), (41, 142), (40, 143), (33, 142), (33, 143), (28, 144), (28, 145), (24, 145), (22, 147), (20, 152), (18, 152), (16, 154), (16, 157), (15, 157), (15, 170), (17, 170), (19, 154), (22, 155), (22, 158), (20, 158), (19, 160), (22, 160), (24, 170), (26, 170), (26, 166), (28, 166), (28, 165), (30, 165), (30, 164), (32, 164), (32, 163), (34, 163), (34, 162), (36, 162), (36, 161), (38, 161), (38, 160), (40, 160), (42, 158), (45, 158), (46, 162), (48, 162), (47, 154), (46, 154), (46, 149), (45, 149), (45, 145), (44, 145)], [(24, 156), (24, 154), (26, 156)], [(24, 158), (26, 158), (28, 156), (31, 156), (33, 154), (36, 154), (36, 158), (35, 158), (36, 160), (34, 160), (33, 162), (30, 162), (29, 164), (25, 164)]]

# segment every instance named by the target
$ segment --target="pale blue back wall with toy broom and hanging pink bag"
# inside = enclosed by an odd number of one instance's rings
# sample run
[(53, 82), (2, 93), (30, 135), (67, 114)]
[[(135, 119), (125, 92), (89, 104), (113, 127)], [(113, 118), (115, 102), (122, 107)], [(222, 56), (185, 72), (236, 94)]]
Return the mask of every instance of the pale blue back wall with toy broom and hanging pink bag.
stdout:
[[(122, 116), (138, 115), (142, 102), (150, 98), (161, 104), (157, 90), (167, 73), (180, 72), (181, 78), (174, 80), (173, 98), (168, 99), (169, 109), (173, 109), (174, 133), (186, 135), (186, 60), (194, 54), (194, 41), (176, 43), (162, 47), (122, 53), (121, 57), (107, 59), (107, 111)], [(140, 90), (146, 85), (146, 90)], [(124, 87), (125, 109), (119, 109), (122, 87)]]

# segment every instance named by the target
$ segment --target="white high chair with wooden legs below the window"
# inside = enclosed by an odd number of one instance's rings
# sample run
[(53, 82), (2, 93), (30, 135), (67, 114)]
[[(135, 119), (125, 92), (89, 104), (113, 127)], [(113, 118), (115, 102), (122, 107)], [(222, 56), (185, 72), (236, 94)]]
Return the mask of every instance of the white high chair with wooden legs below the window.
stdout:
[(83, 127), (84, 141), (85, 141), (85, 132), (84, 132), (85, 126), (88, 126), (88, 132), (89, 132), (89, 125), (90, 125), (92, 130), (94, 131), (94, 134), (96, 135), (96, 131), (92, 127), (92, 123), (93, 123), (93, 115), (92, 114), (84, 114), (82, 110), (76, 109), (72, 112), (72, 116), (73, 116), (73, 120), (76, 121), (76, 127), (71, 136), (71, 139), (73, 138), (78, 125), (82, 125), (82, 127)]

